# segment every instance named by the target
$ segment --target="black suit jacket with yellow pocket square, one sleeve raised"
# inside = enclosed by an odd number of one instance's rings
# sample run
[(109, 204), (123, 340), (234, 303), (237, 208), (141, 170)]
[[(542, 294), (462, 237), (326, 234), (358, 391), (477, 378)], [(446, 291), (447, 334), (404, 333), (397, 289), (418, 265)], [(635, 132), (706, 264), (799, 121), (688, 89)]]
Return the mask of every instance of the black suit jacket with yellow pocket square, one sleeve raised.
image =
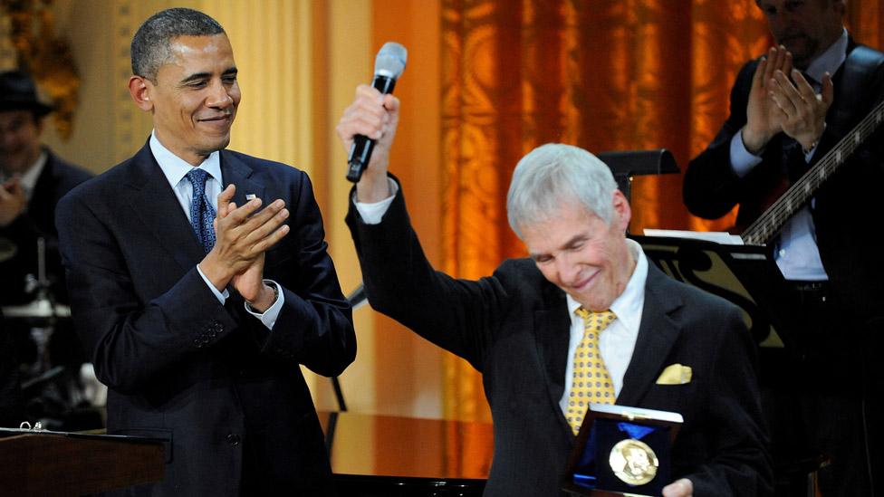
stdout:
[[(379, 225), (365, 225), (352, 205), (347, 221), (372, 307), (482, 373), (495, 432), (485, 495), (559, 494), (574, 441), (559, 406), (571, 326), (564, 292), (529, 259), (505, 261), (478, 281), (434, 271), (401, 193)], [(695, 495), (770, 492), (753, 354), (733, 305), (649, 267), (639, 338), (617, 403), (685, 417), (674, 471), (692, 480)], [(693, 381), (657, 385), (675, 363), (691, 367)]]

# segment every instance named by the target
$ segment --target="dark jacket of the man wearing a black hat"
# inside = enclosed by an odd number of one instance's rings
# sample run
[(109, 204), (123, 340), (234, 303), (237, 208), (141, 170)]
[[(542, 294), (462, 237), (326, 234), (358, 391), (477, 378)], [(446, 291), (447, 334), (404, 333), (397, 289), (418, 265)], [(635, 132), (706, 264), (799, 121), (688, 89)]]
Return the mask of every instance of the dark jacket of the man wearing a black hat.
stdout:
[(53, 281), (53, 296), (57, 301), (68, 301), (62, 257), (58, 253), (55, 205), (64, 194), (92, 175), (65, 162), (48, 148), (44, 150), (48, 158), (37, 177), (27, 210), (9, 225), (0, 227), (0, 238), (7, 238), (16, 246), (14, 257), (0, 263), (0, 274), (3, 274), (0, 305), (34, 300), (35, 295), (24, 292), (24, 277), (27, 274), (37, 275), (37, 238), (41, 236), (46, 243), (46, 272)]

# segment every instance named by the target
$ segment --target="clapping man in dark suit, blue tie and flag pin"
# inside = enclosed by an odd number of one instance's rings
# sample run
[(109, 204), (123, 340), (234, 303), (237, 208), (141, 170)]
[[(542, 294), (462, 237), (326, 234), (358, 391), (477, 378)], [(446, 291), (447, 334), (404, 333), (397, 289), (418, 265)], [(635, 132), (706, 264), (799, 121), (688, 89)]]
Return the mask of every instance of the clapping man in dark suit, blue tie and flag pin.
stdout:
[(58, 209), (75, 324), (110, 388), (108, 432), (167, 442), (163, 481), (131, 493), (328, 494), (299, 365), (337, 375), (356, 343), (310, 180), (225, 149), (240, 90), (214, 19), (154, 14), (131, 53), (130, 93), (153, 133)]

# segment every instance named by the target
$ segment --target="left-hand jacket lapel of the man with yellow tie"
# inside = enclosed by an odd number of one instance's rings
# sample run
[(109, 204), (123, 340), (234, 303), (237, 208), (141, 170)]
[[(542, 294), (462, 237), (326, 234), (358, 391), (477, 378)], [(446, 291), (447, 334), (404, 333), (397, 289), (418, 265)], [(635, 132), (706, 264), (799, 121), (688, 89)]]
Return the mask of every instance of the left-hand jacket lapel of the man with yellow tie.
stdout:
[(546, 285), (544, 302), (548, 305), (541, 311), (534, 312), (534, 339), (543, 361), (545, 383), (550, 402), (562, 425), (562, 429), (571, 432), (559, 401), (564, 393), (565, 368), (568, 360), (568, 342), (571, 338), (571, 319), (568, 316), (568, 305), (565, 294), (558, 288)]

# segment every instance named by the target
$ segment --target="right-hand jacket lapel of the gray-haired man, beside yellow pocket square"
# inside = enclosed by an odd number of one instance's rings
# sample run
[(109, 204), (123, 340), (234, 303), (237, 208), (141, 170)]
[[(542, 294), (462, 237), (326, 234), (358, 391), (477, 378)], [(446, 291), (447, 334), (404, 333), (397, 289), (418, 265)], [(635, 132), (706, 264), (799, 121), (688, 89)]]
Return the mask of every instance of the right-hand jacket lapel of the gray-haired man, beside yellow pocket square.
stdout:
[(639, 338), (636, 341), (629, 367), (623, 377), (623, 387), (617, 397), (620, 406), (636, 406), (648, 388), (654, 384), (656, 376), (669, 355), (669, 350), (678, 339), (680, 329), (669, 314), (681, 307), (677, 292), (668, 292), (673, 282), (648, 264), (648, 281), (645, 282), (645, 305), (641, 311)]

